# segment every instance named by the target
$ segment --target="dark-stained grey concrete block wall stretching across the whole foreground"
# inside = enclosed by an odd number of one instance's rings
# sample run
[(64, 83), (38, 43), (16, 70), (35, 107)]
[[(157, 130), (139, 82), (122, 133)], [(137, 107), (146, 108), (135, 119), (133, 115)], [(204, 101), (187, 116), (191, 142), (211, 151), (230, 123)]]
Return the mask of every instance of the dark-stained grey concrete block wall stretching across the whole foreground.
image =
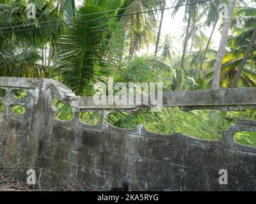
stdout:
[[(68, 173), (88, 191), (109, 190), (120, 186), (124, 178), (134, 191), (256, 190), (256, 148), (239, 145), (233, 140), (237, 131), (256, 131), (256, 122), (239, 120), (223, 133), (222, 140), (209, 141), (180, 133), (149, 133), (143, 126), (132, 130), (115, 128), (106, 122), (94, 126), (84, 124), (78, 117), (60, 121), (55, 119), (51, 108), (53, 97), (71, 101), (71, 104), (72, 100), (78, 100), (77, 104), (81, 102), (68, 91), (52, 88), (55, 83), (0, 77), (0, 88), (8, 92), (0, 98), (5, 105), (4, 112), (0, 113), (1, 164), (26, 160), (31, 166), (42, 167), (48, 170), (41, 177), (41, 184), (45, 186), (54, 185), (51, 171)], [(22, 101), (13, 99), (14, 89), (23, 89), (29, 94)], [(221, 91), (230, 95), (228, 99), (221, 99), (220, 92), (209, 91), (211, 94), (206, 94), (212, 101), (207, 97), (207, 103), (200, 101), (200, 104), (193, 103), (193, 107), (182, 103), (179, 96), (176, 102), (167, 100), (170, 97), (167, 94), (164, 104), (175, 103), (189, 109), (200, 108), (200, 105), (216, 109), (255, 106), (256, 89), (246, 90)], [(188, 94), (182, 94), (186, 101)], [(216, 101), (216, 96), (220, 100)], [(13, 105), (25, 106), (25, 115), (12, 113)], [(86, 105), (75, 108), (74, 112), (82, 109), (85, 110)], [(37, 157), (33, 157), (35, 155)], [(228, 171), (228, 185), (218, 182), (221, 169)]]

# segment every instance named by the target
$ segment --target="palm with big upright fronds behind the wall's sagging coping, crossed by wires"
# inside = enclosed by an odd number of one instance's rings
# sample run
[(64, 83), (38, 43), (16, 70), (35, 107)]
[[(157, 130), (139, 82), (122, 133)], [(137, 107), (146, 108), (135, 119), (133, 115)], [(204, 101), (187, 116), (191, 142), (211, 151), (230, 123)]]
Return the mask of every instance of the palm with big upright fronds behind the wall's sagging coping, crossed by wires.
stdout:
[[(134, 6), (136, 4), (136, 7)], [(74, 19), (75, 24), (68, 27), (58, 40), (58, 58), (54, 62), (54, 71), (56, 76), (63, 84), (70, 87), (78, 95), (93, 94), (93, 84), (102, 77), (109, 74), (109, 68), (115, 68), (116, 62), (122, 59), (122, 54), (129, 47), (131, 52), (134, 52), (139, 46), (138, 43), (145, 44), (142, 38), (150, 36), (150, 32), (146, 31), (148, 22), (145, 15), (134, 16), (134, 26), (127, 26), (131, 23), (131, 17), (111, 18), (109, 20), (100, 20), (95, 22), (87, 22), (85, 24), (78, 23), (79, 21), (90, 21), (96, 18), (113, 17), (114, 15), (129, 14), (136, 10), (145, 10), (145, 6), (152, 8), (153, 4), (147, 4), (141, 8), (138, 0), (125, 1), (86, 1), (86, 4), (81, 6), (77, 11), (78, 15), (90, 14), (84, 17), (79, 17), (79, 20)], [(113, 10), (116, 8), (124, 8), (110, 13), (100, 13), (100, 11)], [(135, 12), (136, 13), (136, 12)], [(152, 12), (147, 14), (148, 18), (154, 18)], [(147, 19), (148, 19), (147, 18)], [(140, 20), (139, 20), (140, 19)], [(77, 23), (76, 23), (77, 22)], [(143, 24), (143, 25), (142, 25)], [(131, 32), (136, 33), (136, 43), (127, 43), (131, 38)], [(134, 36), (134, 35), (133, 35)], [(133, 38), (132, 36), (132, 38)], [(148, 41), (149, 42), (149, 41)]]

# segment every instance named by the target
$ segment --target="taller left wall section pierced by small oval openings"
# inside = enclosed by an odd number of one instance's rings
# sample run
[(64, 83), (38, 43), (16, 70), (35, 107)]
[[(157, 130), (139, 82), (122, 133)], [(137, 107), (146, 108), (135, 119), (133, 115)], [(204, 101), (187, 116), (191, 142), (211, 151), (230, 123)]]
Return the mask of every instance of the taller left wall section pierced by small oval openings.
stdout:
[[(0, 97), (4, 104), (4, 111), (0, 113), (0, 163), (17, 164), (24, 159), (35, 163), (40, 132), (44, 130), (41, 122), (43, 80), (1, 78), (0, 84), (6, 92)], [(26, 98), (15, 98), (13, 92), (18, 90), (26, 92)], [(24, 115), (12, 111), (17, 105), (24, 107)]]

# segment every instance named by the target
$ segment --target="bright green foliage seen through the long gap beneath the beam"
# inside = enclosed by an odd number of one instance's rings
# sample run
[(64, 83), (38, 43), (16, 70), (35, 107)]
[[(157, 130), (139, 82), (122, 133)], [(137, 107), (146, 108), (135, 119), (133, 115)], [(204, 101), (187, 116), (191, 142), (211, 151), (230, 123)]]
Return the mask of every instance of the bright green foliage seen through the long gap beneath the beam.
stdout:
[(205, 140), (218, 140), (221, 138), (228, 123), (223, 114), (211, 110), (195, 110), (183, 112), (179, 108), (164, 108), (161, 112), (143, 111), (139, 114), (120, 113), (109, 120), (118, 128), (135, 128), (143, 124), (148, 130), (155, 133), (183, 133)]

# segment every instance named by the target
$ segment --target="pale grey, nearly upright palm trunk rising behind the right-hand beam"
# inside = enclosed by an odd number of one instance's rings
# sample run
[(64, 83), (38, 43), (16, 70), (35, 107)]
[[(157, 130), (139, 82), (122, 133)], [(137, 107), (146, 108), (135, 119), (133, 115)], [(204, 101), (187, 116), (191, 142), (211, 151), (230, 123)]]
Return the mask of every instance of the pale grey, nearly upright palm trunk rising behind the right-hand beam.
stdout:
[(220, 88), (221, 62), (223, 61), (223, 57), (225, 55), (225, 47), (226, 47), (227, 38), (228, 38), (228, 31), (230, 28), (235, 4), (236, 4), (236, 0), (230, 0), (228, 4), (227, 18), (225, 19), (225, 23), (223, 25), (221, 39), (220, 39), (220, 46), (219, 46), (219, 50), (218, 50), (218, 54), (217, 54), (216, 62), (214, 66), (214, 72), (212, 77), (212, 89)]

